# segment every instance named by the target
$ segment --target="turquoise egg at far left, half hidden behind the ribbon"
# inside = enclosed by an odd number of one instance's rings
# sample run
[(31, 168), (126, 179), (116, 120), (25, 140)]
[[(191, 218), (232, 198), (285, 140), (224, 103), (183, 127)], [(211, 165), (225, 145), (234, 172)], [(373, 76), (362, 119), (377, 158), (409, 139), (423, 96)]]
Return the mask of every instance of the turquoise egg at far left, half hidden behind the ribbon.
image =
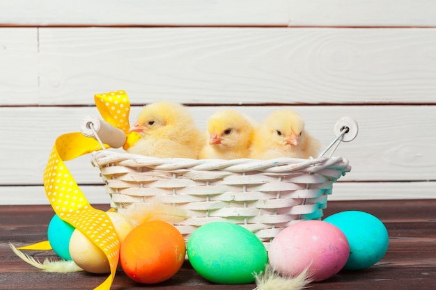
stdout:
[(57, 214), (50, 220), (47, 238), (53, 251), (62, 259), (71, 260), (68, 246), (70, 245), (71, 235), (74, 230), (75, 228), (72, 225), (61, 220)]

